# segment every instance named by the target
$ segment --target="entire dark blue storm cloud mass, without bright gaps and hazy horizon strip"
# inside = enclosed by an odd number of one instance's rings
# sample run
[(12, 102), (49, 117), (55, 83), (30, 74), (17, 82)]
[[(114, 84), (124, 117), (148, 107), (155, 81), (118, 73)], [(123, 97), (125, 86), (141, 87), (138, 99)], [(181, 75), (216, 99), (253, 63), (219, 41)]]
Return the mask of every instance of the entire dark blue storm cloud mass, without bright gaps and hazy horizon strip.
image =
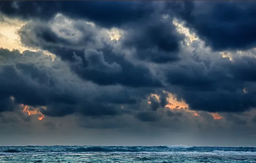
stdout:
[[(15, 109), (9, 99), (13, 96), (17, 104), (47, 106), (41, 112), (53, 117), (130, 114), (157, 122), (165, 117), (168, 104), (168, 94), (162, 90), (197, 111), (243, 112), (256, 106), (256, 58), (237, 55), (230, 61), (216, 52), (235, 53), (254, 46), (253, 2), (0, 4), (5, 15), (31, 19), (18, 30), (23, 45), (57, 56), (52, 61), (42, 52), (1, 48), (0, 104), (5, 107), (0, 112)], [(58, 12), (63, 15), (56, 17)], [(177, 32), (174, 18), (185, 21), (213, 51), (201, 50), (197, 41), (184, 47), (185, 36)], [(107, 34), (111, 27), (124, 31), (118, 41)], [(160, 99), (149, 97), (150, 93)]]

